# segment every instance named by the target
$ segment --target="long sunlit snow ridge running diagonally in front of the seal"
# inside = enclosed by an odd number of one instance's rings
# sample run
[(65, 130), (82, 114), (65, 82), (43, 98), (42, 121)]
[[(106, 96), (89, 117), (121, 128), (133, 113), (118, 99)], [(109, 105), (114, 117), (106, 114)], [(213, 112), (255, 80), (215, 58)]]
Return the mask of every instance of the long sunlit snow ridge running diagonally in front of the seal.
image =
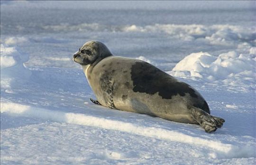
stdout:
[[(10, 114), (22, 114), (22, 116), (37, 117), (45, 120), (65, 122), (69, 124), (95, 126), (103, 129), (128, 132), (160, 140), (178, 141), (182, 143), (206, 146), (207, 148), (213, 148), (219, 151), (219, 157), (230, 157), (230, 155), (231, 157), (239, 157), (240, 155), (246, 157), (253, 156), (253, 148), (249, 146), (247, 146), (247, 148), (243, 148), (243, 150), (245, 151), (238, 152), (239, 148), (236, 148), (230, 144), (223, 144), (219, 141), (205, 140), (197, 137), (188, 136), (181, 132), (168, 131), (155, 127), (138, 126), (136, 124), (109, 120), (90, 115), (62, 113), (58, 111), (51, 111), (47, 109), (5, 102), (1, 102), (1, 112), (7, 112)], [(210, 157), (216, 158), (216, 155), (211, 154)]]

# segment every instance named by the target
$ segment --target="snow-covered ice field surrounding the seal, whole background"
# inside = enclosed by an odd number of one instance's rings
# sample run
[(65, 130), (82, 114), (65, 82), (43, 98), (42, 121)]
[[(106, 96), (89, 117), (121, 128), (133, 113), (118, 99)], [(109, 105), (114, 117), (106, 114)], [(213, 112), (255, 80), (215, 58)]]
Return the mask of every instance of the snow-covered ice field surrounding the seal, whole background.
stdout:
[[(256, 164), (255, 2), (1, 1), (0, 163)], [(191, 84), (226, 120), (111, 110), (72, 54), (86, 41)]]

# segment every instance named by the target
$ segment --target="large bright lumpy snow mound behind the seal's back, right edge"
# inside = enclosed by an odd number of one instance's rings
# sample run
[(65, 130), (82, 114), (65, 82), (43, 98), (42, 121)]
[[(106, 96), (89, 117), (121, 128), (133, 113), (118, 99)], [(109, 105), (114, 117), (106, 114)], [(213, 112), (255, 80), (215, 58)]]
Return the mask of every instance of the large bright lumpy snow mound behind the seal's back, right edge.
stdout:
[(201, 78), (206, 82), (223, 82), (230, 86), (247, 83), (245, 86), (255, 88), (253, 85), (256, 77), (254, 51), (253, 47), (248, 54), (229, 51), (218, 57), (207, 52), (192, 53), (177, 63), (170, 74), (183, 78)]

